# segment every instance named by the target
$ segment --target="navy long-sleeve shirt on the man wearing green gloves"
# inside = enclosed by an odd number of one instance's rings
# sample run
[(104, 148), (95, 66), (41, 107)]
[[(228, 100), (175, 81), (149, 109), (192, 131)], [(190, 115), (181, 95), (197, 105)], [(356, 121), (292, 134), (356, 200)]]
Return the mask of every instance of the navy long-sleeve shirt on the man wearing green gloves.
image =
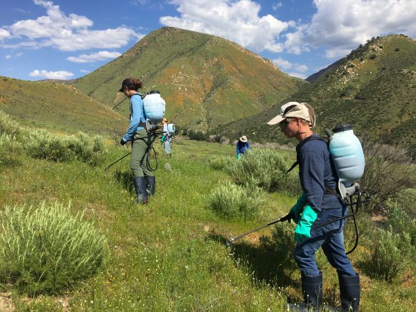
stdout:
[(330, 189), (336, 189), (338, 177), (331, 162), (327, 143), (318, 139), (305, 140), (296, 146), (300, 184), (306, 195), (306, 205), (321, 211), (325, 185)]

